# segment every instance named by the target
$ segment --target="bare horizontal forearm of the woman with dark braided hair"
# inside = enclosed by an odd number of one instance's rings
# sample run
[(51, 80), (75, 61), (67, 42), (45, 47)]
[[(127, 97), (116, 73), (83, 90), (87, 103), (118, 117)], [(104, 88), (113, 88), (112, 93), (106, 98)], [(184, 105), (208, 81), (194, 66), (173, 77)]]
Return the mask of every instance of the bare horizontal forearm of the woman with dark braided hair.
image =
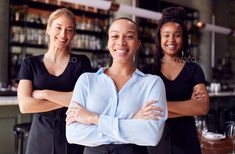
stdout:
[(208, 100), (186, 100), (167, 102), (168, 111), (182, 116), (206, 115), (208, 113)]

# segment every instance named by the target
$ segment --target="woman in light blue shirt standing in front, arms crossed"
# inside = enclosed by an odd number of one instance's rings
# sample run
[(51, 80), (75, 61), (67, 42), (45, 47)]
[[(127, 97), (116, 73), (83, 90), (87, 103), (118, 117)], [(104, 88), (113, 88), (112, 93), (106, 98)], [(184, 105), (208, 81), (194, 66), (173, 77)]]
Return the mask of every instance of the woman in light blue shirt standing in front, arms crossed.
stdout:
[(118, 18), (108, 34), (113, 63), (78, 79), (66, 137), (85, 145), (84, 154), (145, 154), (145, 146), (160, 140), (167, 119), (165, 87), (160, 77), (135, 66), (140, 40), (134, 21)]

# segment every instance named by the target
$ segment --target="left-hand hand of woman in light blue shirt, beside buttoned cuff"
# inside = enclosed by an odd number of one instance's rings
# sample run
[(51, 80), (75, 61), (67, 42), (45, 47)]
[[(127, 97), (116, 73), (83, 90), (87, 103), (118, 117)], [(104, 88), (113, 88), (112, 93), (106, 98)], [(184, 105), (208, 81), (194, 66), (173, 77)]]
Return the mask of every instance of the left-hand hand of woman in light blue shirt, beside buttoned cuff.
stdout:
[(91, 125), (91, 124), (97, 125), (99, 121), (98, 114), (86, 110), (80, 104), (77, 104), (76, 107), (69, 107), (66, 114), (67, 114), (67, 117), (66, 117), (67, 125), (76, 121), (82, 124), (87, 124), (87, 125)]

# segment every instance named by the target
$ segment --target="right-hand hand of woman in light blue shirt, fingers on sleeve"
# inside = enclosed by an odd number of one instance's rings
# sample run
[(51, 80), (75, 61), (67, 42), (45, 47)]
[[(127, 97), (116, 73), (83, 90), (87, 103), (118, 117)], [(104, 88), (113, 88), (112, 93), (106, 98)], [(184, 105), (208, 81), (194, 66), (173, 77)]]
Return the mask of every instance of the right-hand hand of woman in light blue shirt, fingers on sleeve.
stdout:
[(157, 102), (157, 100), (147, 101), (144, 106), (135, 113), (132, 119), (158, 120), (162, 117), (162, 109), (154, 105)]

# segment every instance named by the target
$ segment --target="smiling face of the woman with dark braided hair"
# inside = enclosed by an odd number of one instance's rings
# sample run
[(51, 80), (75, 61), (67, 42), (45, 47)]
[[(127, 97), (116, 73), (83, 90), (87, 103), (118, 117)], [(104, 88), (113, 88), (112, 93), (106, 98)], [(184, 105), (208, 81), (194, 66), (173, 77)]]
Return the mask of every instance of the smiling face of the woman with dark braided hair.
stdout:
[(180, 24), (165, 23), (160, 29), (160, 39), (164, 55), (178, 57), (183, 46), (183, 30)]

